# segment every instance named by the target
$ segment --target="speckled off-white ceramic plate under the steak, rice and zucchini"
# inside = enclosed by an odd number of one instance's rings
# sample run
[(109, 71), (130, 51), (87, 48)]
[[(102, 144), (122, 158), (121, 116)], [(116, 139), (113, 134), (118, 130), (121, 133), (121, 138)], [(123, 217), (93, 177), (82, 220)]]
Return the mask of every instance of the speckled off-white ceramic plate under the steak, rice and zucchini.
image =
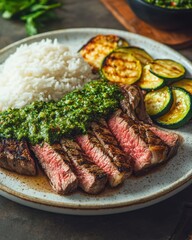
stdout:
[[(117, 34), (131, 45), (147, 50), (154, 58), (170, 58), (182, 63), (187, 75), (192, 76), (192, 64), (171, 48), (148, 38), (113, 29), (67, 29), (48, 32), (16, 42), (0, 51), (2, 63), (15, 49), (23, 44), (40, 41), (43, 38), (58, 39), (62, 44), (77, 51), (91, 37), (97, 34)], [(54, 193), (46, 177), (23, 177), (0, 169), (0, 194), (20, 204), (56, 213), (77, 215), (112, 214), (131, 211), (158, 203), (184, 189), (192, 182), (192, 124), (178, 131), (184, 142), (177, 156), (155, 171), (142, 177), (131, 177), (123, 186), (106, 188), (97, 196), (80, 190), (60, 196)]]

